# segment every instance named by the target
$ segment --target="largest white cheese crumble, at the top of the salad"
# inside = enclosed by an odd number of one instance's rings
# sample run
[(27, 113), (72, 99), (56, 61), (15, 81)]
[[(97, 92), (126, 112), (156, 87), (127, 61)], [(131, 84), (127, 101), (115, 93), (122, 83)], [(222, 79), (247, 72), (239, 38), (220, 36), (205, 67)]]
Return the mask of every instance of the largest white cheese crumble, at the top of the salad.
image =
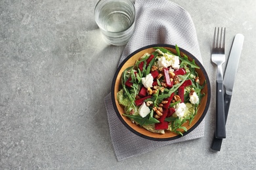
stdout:
[(161, 50), (157, 49), (156, 52), (159, 52), (163, 56), (158, 58), (158, 66), (167, 68), (169, 66), (173, 67), (173, 69), (179, 69), (180, 68), (180, 60), (178, 56), (167, 54), (161, 52)]

